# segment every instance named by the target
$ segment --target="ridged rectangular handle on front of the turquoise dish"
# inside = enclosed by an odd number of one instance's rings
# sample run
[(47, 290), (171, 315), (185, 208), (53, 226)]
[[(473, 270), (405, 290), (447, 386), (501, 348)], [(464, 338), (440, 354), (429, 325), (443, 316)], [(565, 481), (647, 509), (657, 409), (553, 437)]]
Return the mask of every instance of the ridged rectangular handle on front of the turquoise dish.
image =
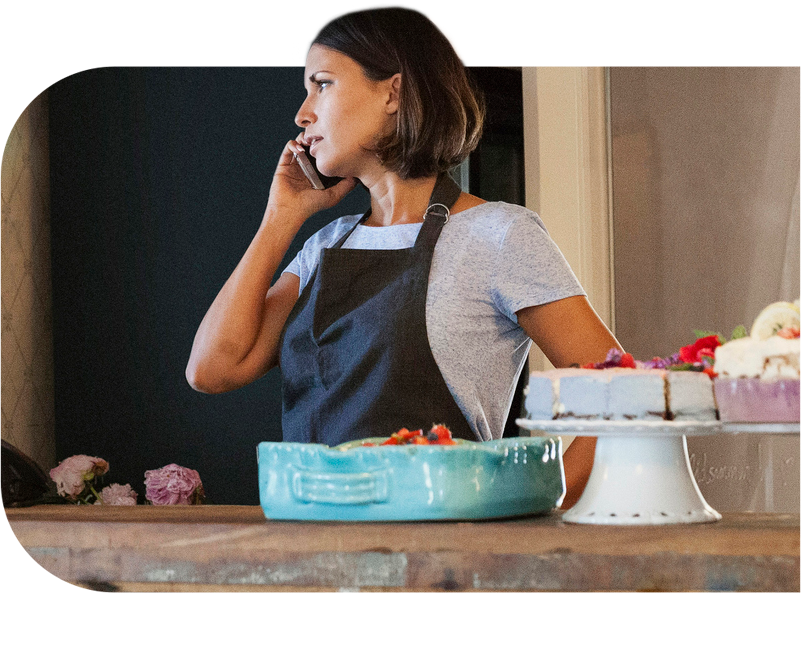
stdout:
[(292, 494), (303, 503), (358, 505), (389, 500), (389, 472), (330, 473), (291, 469)]

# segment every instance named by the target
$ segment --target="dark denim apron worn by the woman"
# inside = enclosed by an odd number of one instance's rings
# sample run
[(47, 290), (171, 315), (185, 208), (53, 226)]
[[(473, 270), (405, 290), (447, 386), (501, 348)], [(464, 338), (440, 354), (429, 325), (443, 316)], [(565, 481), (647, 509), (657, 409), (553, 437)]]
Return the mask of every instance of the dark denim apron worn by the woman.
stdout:
[(337, 445), (435, 423), (476, 439), (426, 328), (434, 246), (460, 193), (439, 176), (413, 247), (343, 249), (368, 211), (323, 250), (281, 335), (284, 441)]

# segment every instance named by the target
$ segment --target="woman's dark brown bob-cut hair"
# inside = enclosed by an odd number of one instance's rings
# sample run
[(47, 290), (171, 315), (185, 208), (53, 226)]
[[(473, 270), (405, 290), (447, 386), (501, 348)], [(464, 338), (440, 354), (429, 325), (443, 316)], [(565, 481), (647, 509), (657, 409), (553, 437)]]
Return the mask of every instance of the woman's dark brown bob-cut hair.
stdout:
[(345, 14), (313, 44), (355, 60), (365, 76), (401, 75), (395, 132), (380, 141), (382, 163), (401, 178), (438, 175), (476, 148), (485, 106), (448, 39), (425, 16), (386, 8)]

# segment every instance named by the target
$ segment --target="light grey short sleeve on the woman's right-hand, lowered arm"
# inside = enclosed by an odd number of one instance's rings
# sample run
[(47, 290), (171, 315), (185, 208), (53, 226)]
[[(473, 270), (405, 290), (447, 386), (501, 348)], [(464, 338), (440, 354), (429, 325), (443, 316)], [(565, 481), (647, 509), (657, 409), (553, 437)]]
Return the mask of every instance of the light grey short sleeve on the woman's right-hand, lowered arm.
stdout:
[(536, 213), (518, 208), (498, 250), (492, 280), (500, 312), (515, 312), (570, 296), (586, 295)]

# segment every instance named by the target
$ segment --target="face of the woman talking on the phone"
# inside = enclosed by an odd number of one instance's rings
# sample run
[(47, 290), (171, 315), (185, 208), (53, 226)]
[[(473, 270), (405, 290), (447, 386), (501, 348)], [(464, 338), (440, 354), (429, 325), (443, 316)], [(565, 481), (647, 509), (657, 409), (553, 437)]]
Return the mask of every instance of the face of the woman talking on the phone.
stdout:
[(324, 175), (359, 177), (378, 164), (372, 146), (395, 126), (400, 75), (371, 81), (338, 51), (312, 45), (306, 58), (306, 100), (295, 122)]

